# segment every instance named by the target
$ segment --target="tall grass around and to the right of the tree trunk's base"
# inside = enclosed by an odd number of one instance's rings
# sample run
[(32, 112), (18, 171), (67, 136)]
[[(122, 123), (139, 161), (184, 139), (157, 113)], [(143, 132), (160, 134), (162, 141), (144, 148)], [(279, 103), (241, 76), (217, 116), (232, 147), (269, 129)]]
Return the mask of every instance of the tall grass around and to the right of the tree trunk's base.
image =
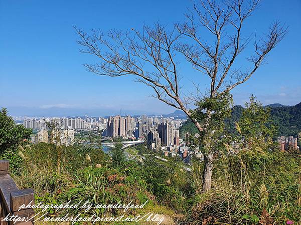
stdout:
[[(225, 152), (214, 167), (212, 191), (196, 194), (189, 224), (283, 224), (301, 222), (300, 160), (260, 148)], [(193, 177), (200, 168), (194, 167)], [(295, 175), (295, 176), (294, 176)]]

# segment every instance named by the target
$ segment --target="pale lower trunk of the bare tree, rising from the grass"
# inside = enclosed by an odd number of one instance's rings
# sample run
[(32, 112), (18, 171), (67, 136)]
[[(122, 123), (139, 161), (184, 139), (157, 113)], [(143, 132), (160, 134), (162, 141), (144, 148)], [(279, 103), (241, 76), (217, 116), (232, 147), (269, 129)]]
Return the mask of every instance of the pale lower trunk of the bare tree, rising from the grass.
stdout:
[(211, 190), (211, 177), (213, 169), (213, 153), (204, 154), (204, 169), (203, 169), (203, 192)]

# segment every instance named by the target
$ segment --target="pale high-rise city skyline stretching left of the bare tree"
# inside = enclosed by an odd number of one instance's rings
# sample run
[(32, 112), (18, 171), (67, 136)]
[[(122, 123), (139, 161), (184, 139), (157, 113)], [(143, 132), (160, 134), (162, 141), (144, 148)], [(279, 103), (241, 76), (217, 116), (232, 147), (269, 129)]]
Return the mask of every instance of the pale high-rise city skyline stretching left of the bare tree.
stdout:
[[(154, 150), (163, 150), (174, 156), (187, 155), (187, 146), (180, 138), (179, 127), (185, 119), (176, 119), (163, 116), (133, 117), (130, 115), (109, 117), (46, 117), (26, 118), (23, 125), (27, 128), (38, 129), (38, 134), (33, 137), (33, 142), (58, 142), (72, 145), (74, 132), (80, 130), (102, 130), (108, 137), (122, 137), (123, 139), (143, 139)], [(60, 127), (58, 134), (50, 134), (48, 124)], [(56, 137), (56, 138), (54, 138)], [(59, 138), (58, 138), (59, 137)], [(181, 147), (181, 150), (180, 150)], [(185, 153), (186, 152), (186, 153)]]

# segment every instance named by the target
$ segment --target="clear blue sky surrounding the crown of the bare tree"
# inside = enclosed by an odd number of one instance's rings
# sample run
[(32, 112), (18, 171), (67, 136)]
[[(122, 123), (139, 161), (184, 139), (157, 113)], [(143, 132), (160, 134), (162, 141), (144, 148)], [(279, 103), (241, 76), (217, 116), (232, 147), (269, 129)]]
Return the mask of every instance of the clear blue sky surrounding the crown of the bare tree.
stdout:
[[(0, 0), (0, 107), (13, 115), (172, 112), (132, 78), (87, 72), (82, 64), (96, 58), (78, 51), (72, 25), (106, 31), (139, 29), (157, 20), (173, 24), (190, 6), (189, 0)], [(289, 33), (268, 64), (233, 91), (237, 104), (251, 93), (264, 104), (301, 101), (301, 1), (263, 0), (246, 29), (262, 32), (275, 19), (289, 25)], [(201, 77), (181, 65), (186, 72)]]

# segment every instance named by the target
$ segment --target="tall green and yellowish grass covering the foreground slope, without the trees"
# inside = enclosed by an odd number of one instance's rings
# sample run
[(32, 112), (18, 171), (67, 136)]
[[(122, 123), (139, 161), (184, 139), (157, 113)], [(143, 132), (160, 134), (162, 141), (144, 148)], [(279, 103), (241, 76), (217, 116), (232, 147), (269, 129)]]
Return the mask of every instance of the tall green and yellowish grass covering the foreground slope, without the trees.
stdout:
[[(149, 157), (143, 163), (125, 161), (116, 166), (101, 151), (60, 147), (61, 153), (51, 144), (20, 148), (23, 168), (12, 175), (20, 187), (35, 190), (36, 201), (140, 204), (149, 200), (144, 212), (166, 213), (175, 224), (283, 224), (287, 220), (297, 224), (301, 220), (301, 160), (285, 152), (225, 145), (214, 164), (212, 190), (203, 193), (199, 161), (193, 162), (191, 173), (172, 159), (165, 163)], [(83, 211), (91, 212), (95, 211)]]

